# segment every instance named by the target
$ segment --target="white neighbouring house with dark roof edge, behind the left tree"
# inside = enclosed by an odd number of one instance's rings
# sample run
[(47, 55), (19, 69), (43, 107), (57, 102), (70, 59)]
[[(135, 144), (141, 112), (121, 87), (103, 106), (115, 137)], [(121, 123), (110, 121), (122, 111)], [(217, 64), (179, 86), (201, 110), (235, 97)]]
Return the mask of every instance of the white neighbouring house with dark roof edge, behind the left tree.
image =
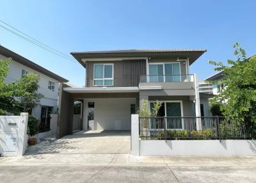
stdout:
[(40, 75), (38, 92), (42, 93), (44, 97), (40, 100), (39, 105), (33, 109), (32, 114), (36, 118), (40, 118), (40, 124), (44, 125), (42, 128), (49, 128), (51, 113), (56, 113), (58, 107), (59, 83), (65, 83), (68, 80), (0, 45), (0, 59), (4, 58), (12, 58), (5, 79), (6, 83), (17, 81), (28, 73)]

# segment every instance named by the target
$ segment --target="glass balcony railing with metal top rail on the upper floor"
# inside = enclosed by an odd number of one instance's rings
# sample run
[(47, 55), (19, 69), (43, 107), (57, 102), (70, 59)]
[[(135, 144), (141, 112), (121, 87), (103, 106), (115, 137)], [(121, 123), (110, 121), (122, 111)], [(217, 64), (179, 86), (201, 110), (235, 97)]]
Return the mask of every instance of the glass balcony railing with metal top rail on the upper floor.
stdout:
[(161, 82), (193, 82), (193, 74), (186, 75), (141, 75), (140, 83), (161, 83)]

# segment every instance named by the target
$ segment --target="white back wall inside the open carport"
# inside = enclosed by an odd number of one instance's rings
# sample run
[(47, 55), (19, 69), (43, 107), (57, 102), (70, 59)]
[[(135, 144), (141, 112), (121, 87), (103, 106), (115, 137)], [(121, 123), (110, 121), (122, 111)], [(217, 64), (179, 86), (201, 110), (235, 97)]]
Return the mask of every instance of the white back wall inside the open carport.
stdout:
[(84, 99), (83, 129), (87, 129), (88, 102), (94, 102), (96, 129), (131, 130), (131, 104), (136, 99)]

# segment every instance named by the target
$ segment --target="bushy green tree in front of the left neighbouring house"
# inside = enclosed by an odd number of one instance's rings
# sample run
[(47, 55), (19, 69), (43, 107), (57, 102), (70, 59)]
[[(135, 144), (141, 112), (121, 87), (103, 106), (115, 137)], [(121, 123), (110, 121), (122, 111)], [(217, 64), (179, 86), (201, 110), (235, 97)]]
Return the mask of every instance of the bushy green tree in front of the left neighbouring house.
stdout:
[(38, 74), (27, 74), (13, 83), (5, 83), (11, 59), (0, 60), (0, 115), (20, 111), (30, 112), (35, 107), (42, 94), (38, 93)]

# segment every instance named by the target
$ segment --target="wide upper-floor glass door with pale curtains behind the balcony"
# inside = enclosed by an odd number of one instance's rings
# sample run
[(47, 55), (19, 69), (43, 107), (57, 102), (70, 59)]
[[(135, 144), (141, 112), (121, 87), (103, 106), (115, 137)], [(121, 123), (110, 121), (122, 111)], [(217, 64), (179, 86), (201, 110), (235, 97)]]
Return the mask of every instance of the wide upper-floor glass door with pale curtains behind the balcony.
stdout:
[(150, 63), (150, 82), (180, 82), (180, 63)]

